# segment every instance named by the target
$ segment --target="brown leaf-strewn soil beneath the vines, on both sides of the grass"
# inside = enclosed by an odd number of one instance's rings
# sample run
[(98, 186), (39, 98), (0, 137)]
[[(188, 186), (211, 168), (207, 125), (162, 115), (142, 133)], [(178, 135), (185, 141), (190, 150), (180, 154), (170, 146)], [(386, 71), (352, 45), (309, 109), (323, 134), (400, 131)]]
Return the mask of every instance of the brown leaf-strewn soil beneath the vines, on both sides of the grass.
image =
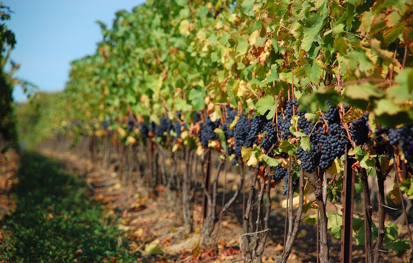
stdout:
[[(242, 197), (238, 203), (230, 209), (215, 230), (213, 236), (218, 245), (218, 251), (213, 249), (200, 249), (199, 229), (202, 221), (202, 207), (195, 206), (194, 231), (185, 235), (180, 225), (179, 215), (176, 214), (175, 205), (171, 205), (171, 193), (162, 187), (158, 187), (159, 196), (156, 199), (148, 198), (145, 188), (138, 184), (122, 185), (121, 180), (113, 169), (103, 170), (100, 165), (93, 164), (90, 160), (79, 158), (74, 153), (57, 153), (43, 150), (43, 154), (56, 158), (66, 164), (70, 173), (83, 176), (91, 191), (91, 197), (101, 202), (108, 215), (119, 216), (118, 227), (125, 230), (127, 241), (130, 242), (131, 251), (141, 251), (145, 260), (170, 260), (175, 262), (223, 262), (234, 263), (244, 261), (238, 242), (242, 234)], [(0, 155), (0, 216), (13, 211), (12, 198), (7, 195), (7, 190), (15, 182), (14, 175), (17, 172), (18, 155), (9, 151), (6, 155)], [(236, 185), (236, 174), (227, 175), (227, 188)], [(248, 180), (249, 177), (247, 177)], [(221, 176), (223, 184), (223, 176)], [(278, 187), (280, 188), (280, 187)], [(280, 188), (281, 189), (281, 188)], [(281, 201), (285, 199), (281, 195), (282, 189), (274, 189), (272, 197), (272, 209), (270, 216), (271, 232), (266, 242), (263, 254), (263, 262), (272, 263), (282, 252), (284, 242), (285, 209), (281, 207)], [(202, 196), (202, 193), (199, 194)], [(198, 197), (199, 197), (198, 196)], [(200, 198), (200, 197), (199, 197)], [(228, 197), (229, 198), (229, 197)], [(218, 203), (222, 201), (218, 200)], [(4, 208), (5, 207), (5, 208)], [(328, 206), (328, 212), (336, 212), (337, 207)], [(4, 212), (3, 212), (4, 211)], [(304, 219), (303, 216), (302, 219)], [(218, 225), (218, 224), (217, 224)], [(406, 228), (406, 227), (405, 227)], [(287, 262), (317, 262), (316, 258), (316, 227), (301, 223), (299, 235), (294, 243), (292, 254)], [(151, 243), (153, 242), (153, 243)], [(145, 253), (148, 244), (163, 249), (164, 256), (151, 256)], [(330, 255), (332, 262), (339, 262), (340, 245), (335, 238), (330, 238)], [(364, 262), (364, 247), (353, 244), (353, 262)], [(381, 262), (405, 262), (392, 253), (382, 254)]]

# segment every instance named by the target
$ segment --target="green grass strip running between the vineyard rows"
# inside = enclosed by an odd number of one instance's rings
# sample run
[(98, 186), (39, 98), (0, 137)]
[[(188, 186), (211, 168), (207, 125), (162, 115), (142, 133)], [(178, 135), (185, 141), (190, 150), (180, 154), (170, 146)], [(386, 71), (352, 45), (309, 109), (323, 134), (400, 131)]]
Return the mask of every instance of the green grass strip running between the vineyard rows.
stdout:
[(116, 220), (104, 215), (62, 164), (23, 153), (18, 178), (17, 209), (0, 222), (0, 261), (134, 262), (138, 257), (118, 244), (123, 233)]

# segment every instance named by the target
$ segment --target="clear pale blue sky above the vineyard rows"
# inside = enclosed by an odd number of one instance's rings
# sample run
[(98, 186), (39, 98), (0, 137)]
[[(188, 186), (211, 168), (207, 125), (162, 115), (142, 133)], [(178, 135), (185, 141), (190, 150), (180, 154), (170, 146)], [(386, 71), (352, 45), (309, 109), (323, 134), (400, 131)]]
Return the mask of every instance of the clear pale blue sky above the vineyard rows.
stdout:
[[(17, 45), (12, 60), (21, 63), (18, 77), (38, 85), (42, 91), (64, 89), (69, 62), (96, 51), (102, 40), (100, 20), (112, 27), (115, 13), (141, 5), (145, 0), (3, 0), (12, 9), (6, 21)], [(17, 87), (15, 101), (26, 96)]]

